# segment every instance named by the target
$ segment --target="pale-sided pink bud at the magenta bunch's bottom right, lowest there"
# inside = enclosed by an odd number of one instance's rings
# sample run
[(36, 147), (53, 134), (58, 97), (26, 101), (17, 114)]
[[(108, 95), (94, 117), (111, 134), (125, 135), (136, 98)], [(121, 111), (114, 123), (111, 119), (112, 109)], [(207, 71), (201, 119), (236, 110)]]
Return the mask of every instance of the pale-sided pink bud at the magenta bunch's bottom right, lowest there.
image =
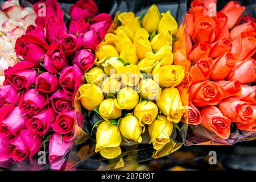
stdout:
[(63, 140), (58, 133), (53, 133), (49, 140), (49, 163), (53, 164), (64, 158), (72, 148), (72, 140)]

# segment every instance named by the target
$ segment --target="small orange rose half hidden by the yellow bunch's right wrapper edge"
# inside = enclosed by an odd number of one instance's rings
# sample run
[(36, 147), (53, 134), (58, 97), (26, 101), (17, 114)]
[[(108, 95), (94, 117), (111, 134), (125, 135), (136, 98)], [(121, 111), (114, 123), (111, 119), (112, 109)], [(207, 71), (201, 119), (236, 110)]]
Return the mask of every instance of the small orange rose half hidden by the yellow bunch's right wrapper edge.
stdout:
[(192, 103), (188, 104), (188, 124), (189, 125), (200, 125), (202, 117), (199, 109)]

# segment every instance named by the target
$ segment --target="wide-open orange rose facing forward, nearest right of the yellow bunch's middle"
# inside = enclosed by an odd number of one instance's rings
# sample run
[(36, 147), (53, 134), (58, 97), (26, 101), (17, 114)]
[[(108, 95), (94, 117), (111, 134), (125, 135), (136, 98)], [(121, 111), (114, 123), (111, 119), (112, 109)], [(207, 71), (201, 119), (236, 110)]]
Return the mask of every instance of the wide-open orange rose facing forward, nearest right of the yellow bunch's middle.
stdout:
[(209, 80), (192, 85), (189, 93), (197, 107), (217, 105), (223, 98), (221, 87)]

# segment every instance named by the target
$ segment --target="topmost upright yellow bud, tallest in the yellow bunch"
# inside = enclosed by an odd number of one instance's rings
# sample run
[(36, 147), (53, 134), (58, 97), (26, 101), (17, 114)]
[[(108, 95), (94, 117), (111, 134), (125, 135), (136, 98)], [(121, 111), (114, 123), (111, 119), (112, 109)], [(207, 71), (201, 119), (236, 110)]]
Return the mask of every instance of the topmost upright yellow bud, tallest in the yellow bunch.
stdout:
[(160, 22), (161, 15), (159, 13), (158, 7), (152, 5), (150, 9), (148, 9), (147, 14), (142, 18), (142, 26), (145, 28), (148, 33), (158, 31), (158, 24)]

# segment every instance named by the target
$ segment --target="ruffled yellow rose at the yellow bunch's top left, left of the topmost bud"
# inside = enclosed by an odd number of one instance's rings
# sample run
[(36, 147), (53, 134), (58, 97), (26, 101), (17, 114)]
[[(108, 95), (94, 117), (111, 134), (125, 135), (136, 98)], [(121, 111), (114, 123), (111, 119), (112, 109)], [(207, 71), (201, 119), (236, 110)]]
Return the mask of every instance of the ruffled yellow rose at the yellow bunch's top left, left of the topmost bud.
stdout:
[(126, 26), (132, 32), (136, 32), (141, 28), (139, 23), (139, 16), (135, 17), (133, 12), (124, 12), (117, 16), (118, 20), (121, 22), (121, 25)]

